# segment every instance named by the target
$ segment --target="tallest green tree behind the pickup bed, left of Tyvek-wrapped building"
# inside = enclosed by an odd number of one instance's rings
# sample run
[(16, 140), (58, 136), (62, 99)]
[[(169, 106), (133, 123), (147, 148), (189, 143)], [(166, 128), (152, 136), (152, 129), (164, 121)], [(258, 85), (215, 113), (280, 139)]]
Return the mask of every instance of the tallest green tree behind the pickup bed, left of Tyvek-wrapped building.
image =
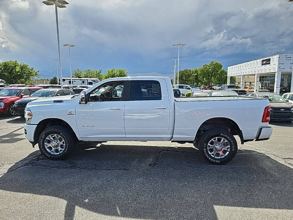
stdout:
[(203, 84), (210, 85), (213, 77), (222, 69), (223, 65), (217, 61), (211, 61), (198, 68), (199, 78)]

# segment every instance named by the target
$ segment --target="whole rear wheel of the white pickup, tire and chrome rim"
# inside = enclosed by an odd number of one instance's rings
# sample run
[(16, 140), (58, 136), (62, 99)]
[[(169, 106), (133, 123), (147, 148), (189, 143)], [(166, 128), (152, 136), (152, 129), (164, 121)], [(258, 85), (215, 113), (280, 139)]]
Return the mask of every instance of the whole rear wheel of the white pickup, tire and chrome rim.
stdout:
[(199, 141), (202, 157), (211, 164), (229, 163), (237, 153), (237, 142), (234, 136), (223, 129), (211, 129), (202, 134)]

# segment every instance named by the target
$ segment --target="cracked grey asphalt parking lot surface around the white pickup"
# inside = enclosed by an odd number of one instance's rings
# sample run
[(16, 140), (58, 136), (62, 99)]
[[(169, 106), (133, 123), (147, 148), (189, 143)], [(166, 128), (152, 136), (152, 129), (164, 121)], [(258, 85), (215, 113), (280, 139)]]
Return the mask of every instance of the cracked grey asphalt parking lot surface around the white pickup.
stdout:
[(293, 123), (206, 163), (191, 144), (107, 142), (45, 159), (0, 115), (0, 219), (293, 219)]

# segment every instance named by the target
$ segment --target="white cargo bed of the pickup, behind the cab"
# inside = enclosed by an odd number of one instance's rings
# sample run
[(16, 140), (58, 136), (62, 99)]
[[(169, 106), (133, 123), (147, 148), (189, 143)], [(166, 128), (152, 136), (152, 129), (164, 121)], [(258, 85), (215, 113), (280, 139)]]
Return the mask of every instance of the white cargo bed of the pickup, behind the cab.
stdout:
[(268, 99), (245, 96), (186, 97), (175, 99), (173, 140), (192, 141), (197, 130), (207, 120), (233, 121), (243, 132), (244, 140), (255, 139), (262, 123)]

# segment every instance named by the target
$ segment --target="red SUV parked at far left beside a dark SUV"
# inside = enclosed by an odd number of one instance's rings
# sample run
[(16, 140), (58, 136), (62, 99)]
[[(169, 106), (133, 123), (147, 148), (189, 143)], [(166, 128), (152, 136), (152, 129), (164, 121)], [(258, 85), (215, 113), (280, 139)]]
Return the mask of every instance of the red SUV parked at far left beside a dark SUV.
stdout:
[(14, 102), (30, 96), (41, 87), (8, 87), (0, 91), (0, 114), (7, 113), (8, 116), (16, 115)]

